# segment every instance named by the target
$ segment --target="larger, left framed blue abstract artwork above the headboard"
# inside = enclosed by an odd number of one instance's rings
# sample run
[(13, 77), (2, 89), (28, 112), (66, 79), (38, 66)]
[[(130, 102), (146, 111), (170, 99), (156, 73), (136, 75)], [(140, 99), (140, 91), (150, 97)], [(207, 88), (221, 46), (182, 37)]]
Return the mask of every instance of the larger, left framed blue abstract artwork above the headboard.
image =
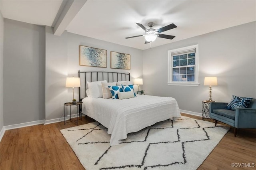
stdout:
[(80, 65), (107, 67), (107, 50), (80, 45)]

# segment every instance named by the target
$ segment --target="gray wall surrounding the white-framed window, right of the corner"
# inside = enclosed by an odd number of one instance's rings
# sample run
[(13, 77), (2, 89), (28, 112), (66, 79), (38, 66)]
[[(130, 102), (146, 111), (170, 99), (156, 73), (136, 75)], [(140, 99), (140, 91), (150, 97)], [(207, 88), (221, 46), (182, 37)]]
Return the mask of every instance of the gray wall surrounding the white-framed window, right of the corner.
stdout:
[[(174, 97), (180, 109), (202, 113), (208, 98), (204, 77), (216, 76), (213, 100), (230, 101), (232, 95), (256, 97), (256, 22), (227, 28), (143, 51), (145, 93)], [(168, 50), (199, 45), (198, 87), (168, 86)]]

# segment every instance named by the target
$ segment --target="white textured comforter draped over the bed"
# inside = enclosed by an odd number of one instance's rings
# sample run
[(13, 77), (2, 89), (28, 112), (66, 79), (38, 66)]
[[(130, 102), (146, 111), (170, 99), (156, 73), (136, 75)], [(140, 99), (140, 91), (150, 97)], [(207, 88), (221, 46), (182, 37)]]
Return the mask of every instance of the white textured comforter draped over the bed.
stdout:
[(108, 128), (111, 146), (118, 145), (118, 140), (127, 138), (130, 132), (181, 117), (178, 103), (172, 97), (137, 95), (122, 100), (86, 97), (82, 102), (82, 112)]

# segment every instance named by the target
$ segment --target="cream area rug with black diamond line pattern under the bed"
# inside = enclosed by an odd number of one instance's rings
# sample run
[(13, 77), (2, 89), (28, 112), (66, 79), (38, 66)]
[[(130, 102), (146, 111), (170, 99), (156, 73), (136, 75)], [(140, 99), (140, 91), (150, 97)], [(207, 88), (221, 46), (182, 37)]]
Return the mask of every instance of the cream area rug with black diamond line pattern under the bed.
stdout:
[(60, 131), (86, 170), (196, 170), (228, 130), (182, 116), (130, 133), (117, 146), (98, 122)]

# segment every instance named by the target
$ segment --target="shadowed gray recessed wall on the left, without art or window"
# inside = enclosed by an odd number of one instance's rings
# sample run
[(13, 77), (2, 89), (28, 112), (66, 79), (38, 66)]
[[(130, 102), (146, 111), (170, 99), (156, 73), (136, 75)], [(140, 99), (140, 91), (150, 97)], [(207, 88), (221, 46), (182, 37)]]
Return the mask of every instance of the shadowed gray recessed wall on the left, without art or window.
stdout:
[(45, 119), (45, 28), (4, 18), (4, 126)]

